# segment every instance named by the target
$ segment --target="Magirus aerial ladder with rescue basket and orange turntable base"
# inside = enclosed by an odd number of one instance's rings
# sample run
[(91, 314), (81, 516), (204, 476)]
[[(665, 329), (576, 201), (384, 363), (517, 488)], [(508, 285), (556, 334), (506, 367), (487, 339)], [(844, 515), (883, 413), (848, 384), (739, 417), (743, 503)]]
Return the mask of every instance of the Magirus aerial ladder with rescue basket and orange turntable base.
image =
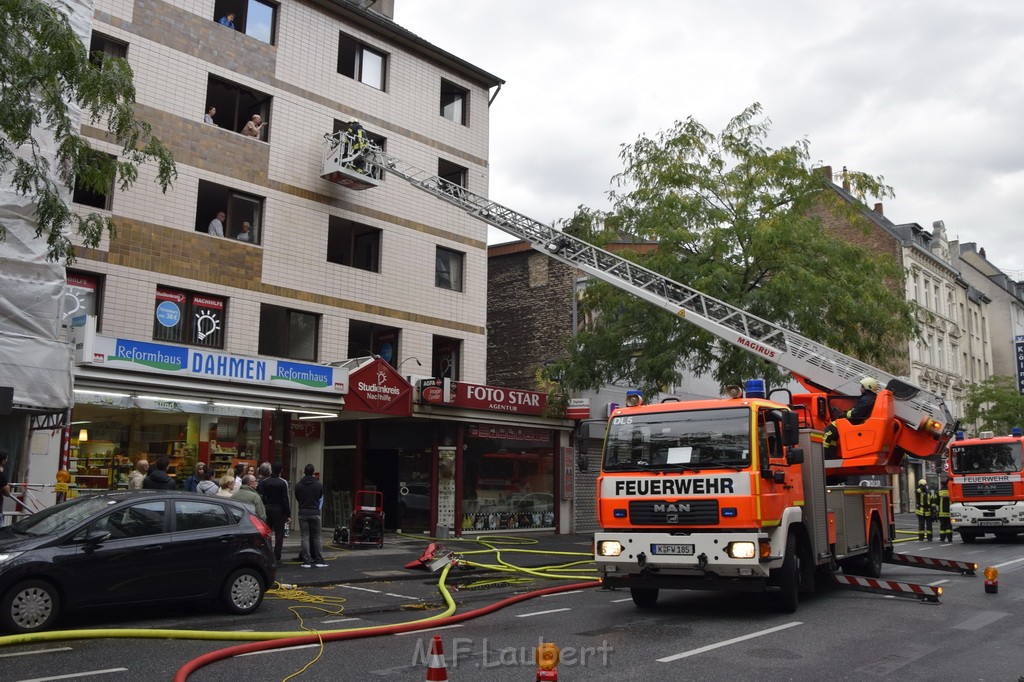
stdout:
[[(883, 450), (860, 457), (843, 453), (846, 433), (841, 429), (840, 456), (830, 462), (845, 473), (895, 473), (903, 455), (933, 457), (944, 452), (956, 420), (940, 395), (914, 386), (879, 368), (833, 350), (767, 319), (670, 280), (622, 256), (534, 220), (517, 211), (480, 197), (445, 178), (411, 166), (379, 145), (352, 148), (344, 131), (325, 135), (322, 177), (353, 189), (378, 186), (383, 173), (396, 175), (437, 199), (456, 206), (534, 249), (601, 282), (684, 317), (717, 338), (752, 352), (790, 372), (808, 391), (818, 394), (856, 395), (859, 381), (873, 377), (891, 394), (893, 430), (884, 434)], [(823, 400), (806, 406), (813, 422), (823, 427), (829, 409)], [(847, 438), (849, 440), (849, 438)]]

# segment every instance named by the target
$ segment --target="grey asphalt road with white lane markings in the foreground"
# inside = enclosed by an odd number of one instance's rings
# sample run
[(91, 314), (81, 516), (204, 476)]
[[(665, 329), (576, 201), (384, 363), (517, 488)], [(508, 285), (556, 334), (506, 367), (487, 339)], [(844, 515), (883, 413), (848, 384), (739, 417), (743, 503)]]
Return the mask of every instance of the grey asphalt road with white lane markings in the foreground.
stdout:
[[(829, 588), (804, 599), (794, 614), (775, 613), (758, 597), (663, 592), (651, 610), (628, 592), (587, 589), (530, 599), (456, 627), (404, 635), (329, 642), (228, 658), (189, 680), (426, 679), (434, 634), (444, 645), (449, 677), (529, 680), (539, 641), (562, 648), (560, 680), (1018, 680), (1024, 676), (1024, 541), (974, 545), (901, 543), (906, 554), (977, 561), (1000, 570), (997, 594), (980, 574), (887, 564), (884, 578), (941, 585), (939, 604)], [(458, 573), (453, 577), (458, 579)], [(441, 610), (436, 576), (310, 589), (268, 599), (244, 619), (212, 607), (156, 612), (112, 611), (89, 625), (239, 631), (365, 628), (404, 623)], [(532, 587), (466, 588), (460, 611)], [(316, 603), (309, 603), (316, 602)], [(126, 624), (126, 621), (132, 621)], [(76, 624), (81, 627), (84, 624)], [(95, 680), (169, 680), (185, 662), (236, 642), (66, 640), (0, 649), (5, 680), (76, 675)], [(59, 679), (76, 679), (62, 677)]]

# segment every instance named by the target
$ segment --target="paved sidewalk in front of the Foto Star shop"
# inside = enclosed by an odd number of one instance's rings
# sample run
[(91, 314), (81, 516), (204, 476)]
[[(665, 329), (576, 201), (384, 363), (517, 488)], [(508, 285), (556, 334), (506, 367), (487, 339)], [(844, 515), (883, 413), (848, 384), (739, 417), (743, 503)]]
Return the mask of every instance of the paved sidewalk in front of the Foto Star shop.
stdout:
[[(384, 546), (355, 545), (351, 550), (347, 546), (334, 544), (334, 530), (324, 531), (324, 558), (326, 568), (303, 568), (299, 561), (301, 539), (297, 529), (293, 529), (285, 538), (282, 551), (282, 565), (278, 566), (278, 582), (298, 586), (334, 585), (338, 583), (367, 583), (375, 581), (424, 580), (430, 571), (424, 568), (406, 568), (406, 564), (415, 561), (427, 549), (427, 545), (436, 542), (447, 550), (458, 553), (460, 550), (484, 549), (475, 541), (477, 537), (493, 538), (501, 534), (484, 534), (482, 536), (466, 536), (463, 539), (444, 539), (431, 541), (427, 536), (384, 535)], [(574, 535), (556, 535), (554, 532), (526, 532), (503, 535), (503, 538), (521, 540), (521, 545), (502, 545), (504, 549), (528, 549), (551, 552), (582, 552), (591, 553), (594, 535), (582, 532)], [(527, 544), (528, 543), (528, 544)], [(571, 557), (569, 557), (571, 558)], [(511, 557), (506, 557), (511, 560)], [(586, 559), (586, 557), (580, 557)], [(541, 566), (558, 563), (565, 557), (551, 559), (541, 555), (520, 554), (514, 563), (523, 566)], [(480, 559), (481, 562), (486, 561)]]

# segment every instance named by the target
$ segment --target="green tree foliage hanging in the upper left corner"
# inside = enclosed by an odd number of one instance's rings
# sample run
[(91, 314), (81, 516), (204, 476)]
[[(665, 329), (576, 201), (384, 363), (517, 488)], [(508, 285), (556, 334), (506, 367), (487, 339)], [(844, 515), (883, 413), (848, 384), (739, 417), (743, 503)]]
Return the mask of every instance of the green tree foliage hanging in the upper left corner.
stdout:
[[(110, 217), (79, 215), (61, 197), (78, 186), (105, 194), (116, 182), (128, 189), (138, 166), (157, 164), (164, 191), (177, 177), (174, 160), (151, 126), (135, 118), (135, 86), (125, 59), (90, 55), (65, 11), (43, 0), (0, 0), (0, 176), (35, 202), (36, 238), (45, 237), (47, 258), (75, 260), (68, 237), (77, 231), (86, 247), (115, 236)], [(69, 103), (83, 120), (104, 121), (108, 140), (121, 147), (112, 159), (82, 137)], [(56, 140), (55, 158), (43, 153), (41, 131)], [(0, 223), (0, 241), (6, 238)]]

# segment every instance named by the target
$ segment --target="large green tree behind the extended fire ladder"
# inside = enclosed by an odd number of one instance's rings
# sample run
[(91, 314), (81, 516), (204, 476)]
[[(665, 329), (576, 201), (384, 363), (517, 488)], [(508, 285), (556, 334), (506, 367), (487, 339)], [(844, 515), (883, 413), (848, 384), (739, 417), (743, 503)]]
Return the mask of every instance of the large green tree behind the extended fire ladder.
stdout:
[[(862, 361), (896, 366), (915, 333), (899, 264), (823, 227), (821, 217), (835, 214), (866, 229), (862, 205), (828, 188), (806, 139), (766, 146), (770, 121), (760, 117), (755, 103), (718, 134), (689, 118), (624, 145), (612, 211), (581, 207), (564, 229)], [(881, 177), (846, 179), (857, 197), (892, 194)], [(651, 391), (678, 384), (681, 368), (722, 385), (784, 380), (775, 366), (610, 285), (589, 287), (582, 305), (598, 322), (558, 368), (566, 388), (627, 381)]]

